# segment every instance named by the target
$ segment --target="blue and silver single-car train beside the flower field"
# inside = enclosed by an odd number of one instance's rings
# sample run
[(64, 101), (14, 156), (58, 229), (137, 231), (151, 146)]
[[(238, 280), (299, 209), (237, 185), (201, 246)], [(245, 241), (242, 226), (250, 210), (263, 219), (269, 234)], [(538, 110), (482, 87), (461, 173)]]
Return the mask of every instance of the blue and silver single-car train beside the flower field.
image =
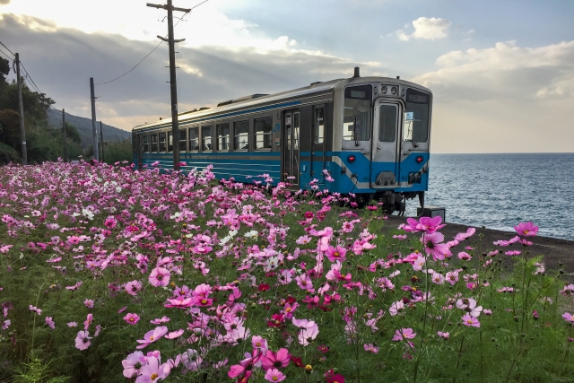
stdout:
[(432, 92), (399, 76), (311, 83), (276, 94), (252, 94), (214, 108), (178, 114), (132, 129), (137, 169), (180, 170), (213, 165), (219, 179), (279, 182), (294, 190), (323, 190), (378, 201), (404, 213), (405, 201), (424, 205), (429, 187)]

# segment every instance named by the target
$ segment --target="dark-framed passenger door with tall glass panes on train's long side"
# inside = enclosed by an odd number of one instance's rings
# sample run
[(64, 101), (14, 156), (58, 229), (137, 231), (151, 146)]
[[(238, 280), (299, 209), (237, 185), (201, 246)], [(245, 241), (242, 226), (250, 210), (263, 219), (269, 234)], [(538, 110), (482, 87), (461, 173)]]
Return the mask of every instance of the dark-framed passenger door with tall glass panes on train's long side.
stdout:
[[(300, 111), (283, 112), (283, 180), (299, 186), (300, 176)], [(289, 177), (289, 179), (287, 179)]]

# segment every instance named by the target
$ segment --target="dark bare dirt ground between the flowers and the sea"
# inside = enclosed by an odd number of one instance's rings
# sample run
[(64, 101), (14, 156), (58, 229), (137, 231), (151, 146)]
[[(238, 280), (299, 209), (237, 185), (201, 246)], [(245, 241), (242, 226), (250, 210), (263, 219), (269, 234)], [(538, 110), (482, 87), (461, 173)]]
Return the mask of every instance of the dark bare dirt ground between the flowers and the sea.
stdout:
[[(406, 217), (398, 217), (396, 215), (388, 215), (387, 224), (383, 232), (391, 232), (396, 230), (396, 228), (403, 222), (406, 222)], [(445, 241), (453, 239), (457, 233), (466, 232), (471, 226), (461, 225), (458, 223), (448, 223), (443, 229), (440, 230), (445, 236)], [(473, 237), (468, 240), (468, 245), (474, 248), (481, 248), (483, 251), (489, 251), (493, 249), (500, 249), (502, 251), (508, 251), (510, 249), (524, 250), (523, 245), (513, 244), (506, 248), (501, 248), (492, 244), (492, 242), (500, 239), (511, 239), (516, 236), (515, 232), (509, 231), (496, 231), (491, 229), (475, 228), (476, 233)], [(479, 234), (483, 234), (479, 237)], [(566, 274), (574, 275), (574, 240), (565, 239), (554, 239), (548, 237), (534, 237), (530, 238), (533, 242), (533, 246), (527, 248), (531, 256), (544, 256), (544, 264), (547, 269), (560, 270), (563, 269)], [(464, 242), (463, 242), (464, 243)], [(465, 246), (468, 246), (465, 245)], [(459, 245), (460, 250), (463, 251), (463, 247)], [(559, 263), (563, 265), (560, 266)], [(574, 283), (574, 277), (570, 278)]]

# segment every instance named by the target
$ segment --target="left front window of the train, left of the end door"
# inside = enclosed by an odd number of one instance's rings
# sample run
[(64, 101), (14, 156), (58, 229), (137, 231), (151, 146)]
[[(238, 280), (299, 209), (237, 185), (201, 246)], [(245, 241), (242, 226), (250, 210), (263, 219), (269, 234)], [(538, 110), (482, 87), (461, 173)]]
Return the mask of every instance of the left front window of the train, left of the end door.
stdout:
[(371, 85), (350, 86), (344, 90), (344, 140), (370, 140), (372, 93)]

